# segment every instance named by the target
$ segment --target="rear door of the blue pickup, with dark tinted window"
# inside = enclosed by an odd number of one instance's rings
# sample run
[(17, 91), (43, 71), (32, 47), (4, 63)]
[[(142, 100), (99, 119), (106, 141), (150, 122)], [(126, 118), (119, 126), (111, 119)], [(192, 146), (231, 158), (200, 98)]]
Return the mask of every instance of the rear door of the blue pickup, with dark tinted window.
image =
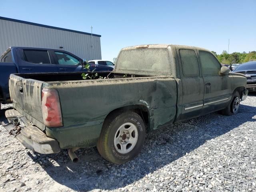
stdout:
[(20, 73), (57, 72), (53, 57), (46, 49), (18, 49)]

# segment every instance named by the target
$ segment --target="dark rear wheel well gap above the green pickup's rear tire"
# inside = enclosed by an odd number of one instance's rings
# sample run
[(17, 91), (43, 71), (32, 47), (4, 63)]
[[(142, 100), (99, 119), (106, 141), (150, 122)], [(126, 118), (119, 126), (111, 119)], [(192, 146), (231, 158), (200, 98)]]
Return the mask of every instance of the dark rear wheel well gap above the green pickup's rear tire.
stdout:
[(115, 110), (112, 110), (105, 118), (105, 121), (106, 119), (113, 113), (120, 113), (122, 111), (133, 111), (133, 112), (136, 112), (141, 118), (142, 120), (144, 121), (145, 123), (145, 126), (146, 126), (146, 131), (148, 131), (149, 127), (150, 127), (150, 116), (149, 116), (149, 111), (148, 111), (148, 108), (144, 105), (130, 105), (130, 106), (124, 106), (124, 107), (120, 107), (120, 108), (117, 108)]

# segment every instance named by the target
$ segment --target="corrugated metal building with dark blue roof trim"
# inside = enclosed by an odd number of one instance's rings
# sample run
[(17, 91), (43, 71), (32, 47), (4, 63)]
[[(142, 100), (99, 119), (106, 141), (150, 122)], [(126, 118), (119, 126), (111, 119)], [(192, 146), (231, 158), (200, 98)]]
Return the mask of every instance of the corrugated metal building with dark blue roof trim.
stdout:
[(0, 55), (10, 46), (52, 48), (101, 59), (100, 35), (0, 17)]

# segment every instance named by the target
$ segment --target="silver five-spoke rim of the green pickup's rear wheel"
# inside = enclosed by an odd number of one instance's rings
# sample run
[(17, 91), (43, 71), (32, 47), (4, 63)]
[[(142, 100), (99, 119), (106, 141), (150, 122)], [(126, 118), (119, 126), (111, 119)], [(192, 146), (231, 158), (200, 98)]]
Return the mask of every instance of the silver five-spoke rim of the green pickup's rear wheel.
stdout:
[(126, 154), (136, 146), (137, 141), (137, 127), (132, 123), (124, 123), (116, 131), (114, 146), (119, 153)]

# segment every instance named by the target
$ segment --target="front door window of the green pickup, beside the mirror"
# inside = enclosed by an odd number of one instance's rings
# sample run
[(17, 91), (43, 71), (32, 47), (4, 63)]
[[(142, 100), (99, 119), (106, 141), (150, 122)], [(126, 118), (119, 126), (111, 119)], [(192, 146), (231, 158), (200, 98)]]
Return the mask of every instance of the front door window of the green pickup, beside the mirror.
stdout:
[(199, 51), (203, 75), (218, 75), (220, 72), (220, 63), (209, 52)]

